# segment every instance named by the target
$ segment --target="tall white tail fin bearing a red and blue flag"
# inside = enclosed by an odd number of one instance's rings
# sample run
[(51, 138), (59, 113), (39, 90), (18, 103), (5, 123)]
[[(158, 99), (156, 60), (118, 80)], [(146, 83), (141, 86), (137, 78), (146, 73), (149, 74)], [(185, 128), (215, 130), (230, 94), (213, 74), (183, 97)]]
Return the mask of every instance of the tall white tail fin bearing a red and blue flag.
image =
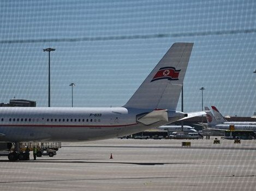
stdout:
[(177, 42), (123, 106), (176, 110), (193, 43)]

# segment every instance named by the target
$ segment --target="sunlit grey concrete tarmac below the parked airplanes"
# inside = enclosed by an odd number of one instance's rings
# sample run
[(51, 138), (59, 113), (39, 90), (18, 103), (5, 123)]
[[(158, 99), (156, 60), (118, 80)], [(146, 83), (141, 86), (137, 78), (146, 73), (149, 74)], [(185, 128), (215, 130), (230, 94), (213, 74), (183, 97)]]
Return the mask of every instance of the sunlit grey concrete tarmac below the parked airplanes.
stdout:
[(256, 141), (219, 140), (116, 138), (62, 143), (36, 161), (0, 157), (0, 190), (255, 190)]

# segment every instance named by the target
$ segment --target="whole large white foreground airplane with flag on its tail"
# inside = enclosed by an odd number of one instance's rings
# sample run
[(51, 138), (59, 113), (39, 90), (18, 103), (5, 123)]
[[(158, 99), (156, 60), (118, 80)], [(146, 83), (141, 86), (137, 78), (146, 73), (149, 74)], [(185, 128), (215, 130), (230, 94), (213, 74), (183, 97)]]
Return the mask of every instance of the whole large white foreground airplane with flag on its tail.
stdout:
[(23, 141), (91, 141), (122, 137), (205, 112), (176, 111), (193, 43), (176, 42), (123, 107), (0, 108), (0, 150)]

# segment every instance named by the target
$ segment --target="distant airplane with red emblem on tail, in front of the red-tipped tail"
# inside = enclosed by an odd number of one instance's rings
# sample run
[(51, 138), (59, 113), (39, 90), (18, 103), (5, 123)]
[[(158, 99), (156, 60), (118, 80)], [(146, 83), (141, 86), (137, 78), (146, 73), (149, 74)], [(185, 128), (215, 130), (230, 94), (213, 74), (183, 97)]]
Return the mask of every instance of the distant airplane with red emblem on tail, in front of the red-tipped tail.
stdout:
[(245, 125), (245, 124), (234, 124), (234, 123), (223, 123), (223, 120), (217, 120), (213, 116), (212, 112), (208, 107), (205, 107), (207, 127), (209, 130), (217, 131), (240, 131), (240, 132), (253, 132), (256, 133), (256, 125)]

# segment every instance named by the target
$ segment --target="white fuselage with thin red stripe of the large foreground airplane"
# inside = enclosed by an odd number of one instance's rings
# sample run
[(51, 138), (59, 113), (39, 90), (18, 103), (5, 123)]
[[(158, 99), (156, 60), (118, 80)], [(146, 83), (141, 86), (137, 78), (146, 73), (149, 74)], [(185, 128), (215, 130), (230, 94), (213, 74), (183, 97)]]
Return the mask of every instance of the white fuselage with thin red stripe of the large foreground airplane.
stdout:
[(0, 108), (0, 141), (82, 141), (120, 137), (176, 121), (181, 112), (168, 110), (168, 122), (138, 122), (145, 109), (110, 108)]

